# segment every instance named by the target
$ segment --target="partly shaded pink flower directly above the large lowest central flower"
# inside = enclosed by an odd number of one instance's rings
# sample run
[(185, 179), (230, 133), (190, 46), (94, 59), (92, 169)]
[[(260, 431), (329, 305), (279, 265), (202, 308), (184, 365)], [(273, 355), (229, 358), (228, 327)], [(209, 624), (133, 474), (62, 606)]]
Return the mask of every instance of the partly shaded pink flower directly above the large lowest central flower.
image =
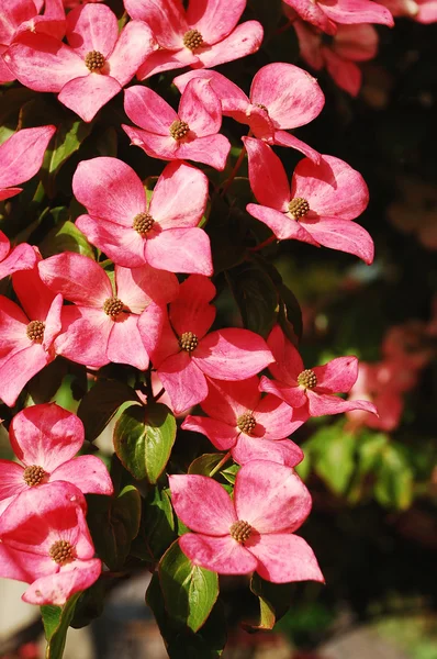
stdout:
[(236, 462), (264, 459), (295, 467), (303, 460), (299, 446), (285, 437), (309, 415), (274, 395), (261, 399), (256, 376), (240, 382), (209, 380), (201, 407), (208, 416), (188, 415), (182, 428), (206, 435), (218, 450), (231, 450)]

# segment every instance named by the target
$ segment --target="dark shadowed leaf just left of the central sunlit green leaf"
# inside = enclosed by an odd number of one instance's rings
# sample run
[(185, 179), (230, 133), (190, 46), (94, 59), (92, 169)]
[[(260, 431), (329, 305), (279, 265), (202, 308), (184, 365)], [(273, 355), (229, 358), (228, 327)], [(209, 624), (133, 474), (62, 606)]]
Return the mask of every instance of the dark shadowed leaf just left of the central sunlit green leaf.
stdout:
[(126, 401), (138, 401), (131, 387), (117, 380), (98, 380), (82, 398), (77, 411), (85, 425), (86, 439), (93, 442), (99, 437)]

